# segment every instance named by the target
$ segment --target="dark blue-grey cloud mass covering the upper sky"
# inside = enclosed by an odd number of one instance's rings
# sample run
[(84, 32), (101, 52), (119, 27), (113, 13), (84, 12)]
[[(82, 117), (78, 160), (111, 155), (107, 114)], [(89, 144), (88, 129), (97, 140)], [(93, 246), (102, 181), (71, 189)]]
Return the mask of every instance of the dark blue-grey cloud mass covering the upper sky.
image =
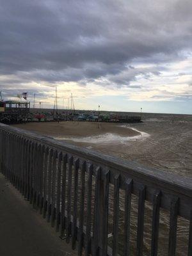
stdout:
[(132, 61), (173, 61), (191, 49), (191, 12), (190, 0), (1, 1), (0, 74), (129, 85), (141, 71)]

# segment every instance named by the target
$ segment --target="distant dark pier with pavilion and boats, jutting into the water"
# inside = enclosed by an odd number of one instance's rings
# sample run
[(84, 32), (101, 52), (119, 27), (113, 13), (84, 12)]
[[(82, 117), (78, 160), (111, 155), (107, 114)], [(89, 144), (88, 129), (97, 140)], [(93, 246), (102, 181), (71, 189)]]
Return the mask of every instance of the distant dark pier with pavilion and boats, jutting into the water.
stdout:
[(30, 102), (0, 100), (0, 123), (61, 121), (136, 123), (141, 122), (141, 116), (126, 113), (122, 115), (122, 113), (109, 113), (108, 111), (100, 113), (100, 111), (75, 111), (73, 109), (30, 109)]

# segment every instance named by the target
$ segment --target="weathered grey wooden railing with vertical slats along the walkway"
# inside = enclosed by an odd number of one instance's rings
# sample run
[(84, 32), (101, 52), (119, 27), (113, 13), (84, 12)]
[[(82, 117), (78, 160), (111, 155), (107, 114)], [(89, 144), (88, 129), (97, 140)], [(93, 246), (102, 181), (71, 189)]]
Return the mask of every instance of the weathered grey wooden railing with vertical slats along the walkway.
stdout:
[[(152, 205), (152, 218), (146, 255), (159, 252), (161, 209), (169, 212), (168, 252), (162, 255), (176, 255), (177, 216), (188, 220), (189, 236), (185, 238), (188, 255), (192, 255), (191, 179), (3, 124), (0, 143), (1, 173), (51, 222), (61, 238), (71, 241), (73, 249), (78, 242), (79, 255), (83, 251), (95, 256), (143, 255), (147, 204)], [(131, 213), (134, 197), (138, 198), (134, 205), (137, 217)], [(109, 204), (113, 205), (111, 214)], [(132, 227), (133, 218), (136, 227)], [(136, 229), (135, 248), (131, 228)]]

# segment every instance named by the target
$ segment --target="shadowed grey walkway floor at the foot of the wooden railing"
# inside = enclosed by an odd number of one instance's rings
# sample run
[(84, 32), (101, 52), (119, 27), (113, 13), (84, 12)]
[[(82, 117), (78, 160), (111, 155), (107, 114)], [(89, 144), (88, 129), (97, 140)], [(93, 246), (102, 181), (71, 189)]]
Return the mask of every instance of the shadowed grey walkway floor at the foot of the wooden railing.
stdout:
[(1, 174), (0, 255), (77, 255)]

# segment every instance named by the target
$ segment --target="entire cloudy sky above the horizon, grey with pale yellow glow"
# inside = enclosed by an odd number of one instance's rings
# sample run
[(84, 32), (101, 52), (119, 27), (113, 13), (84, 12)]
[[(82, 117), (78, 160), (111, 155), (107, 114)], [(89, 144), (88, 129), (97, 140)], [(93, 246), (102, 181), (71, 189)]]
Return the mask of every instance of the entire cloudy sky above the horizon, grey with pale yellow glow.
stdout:
[(0, 0), (0, 90), (33, 104), (192, 114), (191, 0)]

